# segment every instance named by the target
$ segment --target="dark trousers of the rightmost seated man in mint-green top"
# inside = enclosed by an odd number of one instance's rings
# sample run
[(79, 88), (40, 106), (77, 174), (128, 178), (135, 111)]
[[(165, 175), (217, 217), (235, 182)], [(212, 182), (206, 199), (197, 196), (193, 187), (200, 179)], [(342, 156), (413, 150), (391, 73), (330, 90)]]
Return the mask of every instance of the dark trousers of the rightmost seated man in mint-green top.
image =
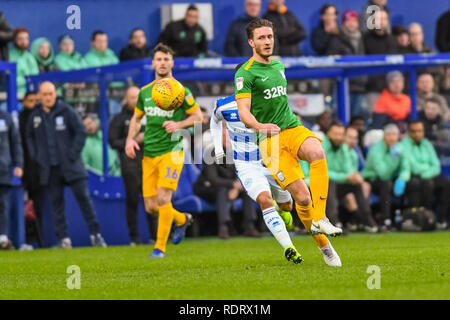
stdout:
[(409, 206), (425, 207), (430, 210), (433, 209), (433, 201), (438, 195), (437, 220), (438, 222), (447, 221), (450, 198), (450, 180), (447, 177), (443, 175), (432, 179), (412, 177), (406, 184), (406, 193)]

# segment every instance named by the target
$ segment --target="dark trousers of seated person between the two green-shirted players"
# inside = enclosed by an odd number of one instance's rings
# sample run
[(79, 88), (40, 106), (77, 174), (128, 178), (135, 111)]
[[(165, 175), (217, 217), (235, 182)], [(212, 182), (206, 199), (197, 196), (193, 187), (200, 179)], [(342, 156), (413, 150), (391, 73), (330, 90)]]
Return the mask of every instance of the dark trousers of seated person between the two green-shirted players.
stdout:
[[(225, 187), (196, 188), (195, 193), (207, 202), (215, 202), (217, 208), (217, 219), (219, 227), (231, 221), (231, 208), (233, 201), (228, 198), (228, 191)], [(253, 200), (246, 194), (239, 195), (242, 198), (242, 211), (244, 214), (244, 229), (252, 228), (257, 219), (256, 209), (253, 206)]]

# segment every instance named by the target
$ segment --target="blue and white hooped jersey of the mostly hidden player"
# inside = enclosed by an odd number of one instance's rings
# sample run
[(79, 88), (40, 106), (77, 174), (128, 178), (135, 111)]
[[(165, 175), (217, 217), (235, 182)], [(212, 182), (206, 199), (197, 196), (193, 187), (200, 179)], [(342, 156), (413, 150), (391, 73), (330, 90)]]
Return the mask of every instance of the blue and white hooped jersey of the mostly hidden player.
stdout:
[(237, 102), (234, 94), (216, 101), (212, 114), (216, 122), (225, 120), (228, 134), (233, 148), (233, 159), (238, 161), (261, 161), (256, 134), (251, 128), (247, 128), (239, 119)]

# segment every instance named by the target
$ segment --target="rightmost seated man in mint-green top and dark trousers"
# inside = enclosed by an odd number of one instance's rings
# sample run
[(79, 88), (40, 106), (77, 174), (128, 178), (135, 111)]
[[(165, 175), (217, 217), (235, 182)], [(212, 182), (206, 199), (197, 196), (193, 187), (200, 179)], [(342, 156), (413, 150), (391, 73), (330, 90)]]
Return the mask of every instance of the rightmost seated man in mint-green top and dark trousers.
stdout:
[(411, 121), (408, 136), (401, 142), (410, 157), (411, 180), (406, 186), (408, 204), (411, 207), (433, 209), (435, 195), (439, 194), (437, 213), (438, 228), (447, 227), (450, 181), (441, 175), (441, 164), (430, 141), (425, 138), (424, 125)]

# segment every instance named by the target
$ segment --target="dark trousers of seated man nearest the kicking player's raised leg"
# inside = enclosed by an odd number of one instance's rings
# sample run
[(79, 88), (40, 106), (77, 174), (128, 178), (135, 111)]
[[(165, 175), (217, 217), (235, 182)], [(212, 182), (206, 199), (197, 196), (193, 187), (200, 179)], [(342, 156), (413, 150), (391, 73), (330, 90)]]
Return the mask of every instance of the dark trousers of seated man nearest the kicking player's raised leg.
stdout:
[(369, 201), (364, 197), (361, 185), (351, 183), (336, 183), (330, 180), (327, 199), (327, 216), (334, 224), (339, 222), (339, 204), (347, 194), (352, 193), (356, 198), (358, 209), (352, 212), (357, 220), (366, 226), (374, 226)]

